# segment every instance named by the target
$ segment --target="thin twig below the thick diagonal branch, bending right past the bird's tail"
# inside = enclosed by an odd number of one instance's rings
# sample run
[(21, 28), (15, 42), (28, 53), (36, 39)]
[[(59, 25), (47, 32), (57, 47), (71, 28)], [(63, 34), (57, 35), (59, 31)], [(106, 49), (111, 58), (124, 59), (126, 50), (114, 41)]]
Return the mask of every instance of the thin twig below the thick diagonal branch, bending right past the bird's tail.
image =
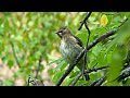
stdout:
[[(96, 69), (93, 68), (93, 69), (90, 69), (90, 70), (84, 71), (84, 74), (88, 74), (88, 73), (91, 73), (91, 72), (98, 72), (99, 70), (104, 70), (104, 69), (107, 69), (107, 68), (108, 68), (108, 65), (106, 65), (106, 66), (101, 66), (101, 68), (96, 68)], [(77, 75), (77, 77), (73, 81), (73, 83), (70, 84), (70, 86), (74, 86), (80, 77), (81, 77), (81, 73), (79, 73), (79, 74)]]

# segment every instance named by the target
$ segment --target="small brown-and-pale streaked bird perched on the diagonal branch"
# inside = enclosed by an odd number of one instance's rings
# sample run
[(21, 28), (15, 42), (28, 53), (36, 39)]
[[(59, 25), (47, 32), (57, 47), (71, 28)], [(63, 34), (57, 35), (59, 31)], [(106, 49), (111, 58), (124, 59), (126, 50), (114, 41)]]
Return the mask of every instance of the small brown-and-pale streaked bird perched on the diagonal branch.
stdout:
[[(81, 40), (74, 36), (67, 27), (61, 27), (56, 33), (61, 38), (60, 51), (63, 58), (66, 60), (69, 65), (74, 63), (77, 56), (83, 50), (83, 45)], [(84, 58), (77, 63), (77, 68), (82, 72)], [(84, 68), (87, 70), (87, 68)], [(88, 74), (84, 75), (86, 81), (89, 81), (90, 77)]]

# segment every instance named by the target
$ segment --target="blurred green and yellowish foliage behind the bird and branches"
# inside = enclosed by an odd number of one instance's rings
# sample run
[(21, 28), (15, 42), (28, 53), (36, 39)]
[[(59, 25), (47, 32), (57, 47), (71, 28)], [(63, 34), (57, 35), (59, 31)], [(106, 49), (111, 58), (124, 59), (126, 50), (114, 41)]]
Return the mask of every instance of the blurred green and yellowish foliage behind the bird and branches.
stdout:
[[(99, 36), (117, 27), (129, 12), (93, 12), (88, 21), (91, 29), (90, 42)], [(44, 85), (55, 85), (65, 72), (67, 63), (62, 60), (58, 50), (60, 38), (55, 34), (60, 27), (67, 26), (83, 44), (87, 30), (78, 30), (86, 12), (3, 12), (0, 13), (0, 85), (27, 85), (28, 76), (42, 79)], [(89, 68), (109, 64), (107, 81), (114, 79), (122, 69), (122, 60), (130, 49), (130, 21), (114, 35), (92, 48), (89, 52)], [(41, 61), (40, 61), (41, 60)], [(76, 77), (75, 68), (63, 85), (68, 85)], [(91, 81), (80, 78), (77, 85), (89, 85), (101, 77), (104, 71), (91, 73)], [(104, 85), (120, 85), (106, 83)]]

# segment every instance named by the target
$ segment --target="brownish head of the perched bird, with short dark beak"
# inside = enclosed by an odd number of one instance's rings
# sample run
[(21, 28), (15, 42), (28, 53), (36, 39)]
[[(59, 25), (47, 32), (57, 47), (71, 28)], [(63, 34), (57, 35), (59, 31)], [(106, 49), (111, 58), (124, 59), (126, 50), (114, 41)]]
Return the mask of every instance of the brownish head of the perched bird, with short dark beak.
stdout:
[(61, 28), (56, 32), (56, 34), (60, 36), (60, 38), (63, 38), (65, 35), (72, 35), (72, 34), (70, 34), (70, 30), (69, 30), (66, 26), (61, 27)]

